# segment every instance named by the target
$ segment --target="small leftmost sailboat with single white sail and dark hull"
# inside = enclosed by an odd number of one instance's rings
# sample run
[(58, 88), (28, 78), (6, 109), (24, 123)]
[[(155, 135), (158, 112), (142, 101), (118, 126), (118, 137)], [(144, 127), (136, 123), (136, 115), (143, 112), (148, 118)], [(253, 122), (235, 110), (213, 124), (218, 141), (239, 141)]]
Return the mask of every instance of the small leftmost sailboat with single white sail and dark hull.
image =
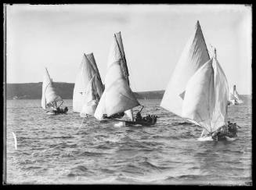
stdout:
[(42, 82), (41, 107), (43, 109), (51, 109), (46, 110), (46, 113), (51, 115), (67, 113), (67, 108), (65, 108), (65, 110), (59, 109), (62, 104), (63, 99), (57, 94), (52, 78), (50, 77), (48, 70), (45, 68), (45, 74)]

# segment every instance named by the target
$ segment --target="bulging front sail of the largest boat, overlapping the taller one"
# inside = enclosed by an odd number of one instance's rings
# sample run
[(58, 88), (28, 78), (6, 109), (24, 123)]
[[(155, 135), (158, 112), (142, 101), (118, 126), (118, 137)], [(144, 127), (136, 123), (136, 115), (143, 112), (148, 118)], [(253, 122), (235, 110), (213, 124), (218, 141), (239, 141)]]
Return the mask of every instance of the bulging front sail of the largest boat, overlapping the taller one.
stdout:
[(194, 120), (208, 133), (222, 127), (227, 120), (229, 86), (222, 67), (212, 58), (190, 78), (182, 117)]

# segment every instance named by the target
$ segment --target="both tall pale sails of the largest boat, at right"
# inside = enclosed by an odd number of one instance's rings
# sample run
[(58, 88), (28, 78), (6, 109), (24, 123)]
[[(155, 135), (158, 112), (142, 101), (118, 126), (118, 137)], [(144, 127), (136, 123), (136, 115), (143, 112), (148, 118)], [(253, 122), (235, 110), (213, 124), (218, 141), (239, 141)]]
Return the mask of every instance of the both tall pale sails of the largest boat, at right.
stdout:
[(202, 127), (203, 137), (226, 124), (228, 93), (216, 49), (210, 59), (197, 21), (195, 33), (182, 52), (160, 106)]

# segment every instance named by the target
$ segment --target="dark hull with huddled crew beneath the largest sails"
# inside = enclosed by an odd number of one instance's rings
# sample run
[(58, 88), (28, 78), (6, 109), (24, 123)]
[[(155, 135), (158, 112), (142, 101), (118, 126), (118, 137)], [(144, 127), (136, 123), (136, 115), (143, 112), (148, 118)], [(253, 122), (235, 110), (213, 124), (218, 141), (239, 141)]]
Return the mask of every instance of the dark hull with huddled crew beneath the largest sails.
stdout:
[(237, 137), (237, 127), (239, 127), (236, 123), (230, 123), (220, 127), (217, 131), (211, 134), (212, 138), (217, 140), (221, 138), (229, 137), (229, 138), (236, 138)]

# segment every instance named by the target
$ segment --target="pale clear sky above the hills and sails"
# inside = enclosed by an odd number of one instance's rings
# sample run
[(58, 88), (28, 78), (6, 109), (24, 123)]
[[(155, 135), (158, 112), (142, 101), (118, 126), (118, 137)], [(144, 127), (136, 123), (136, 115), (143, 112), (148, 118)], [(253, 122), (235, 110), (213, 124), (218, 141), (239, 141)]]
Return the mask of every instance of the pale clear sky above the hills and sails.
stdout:
[(6, 82), (41, 82), (47, 67), (53, 81), (74, 83), (93, 52), (104, 83), (121, 31), (132, 91), (164, 90), (199, 20), (230, 86), (251, 95), (251, 16), (245, 5), (7, 5)]

